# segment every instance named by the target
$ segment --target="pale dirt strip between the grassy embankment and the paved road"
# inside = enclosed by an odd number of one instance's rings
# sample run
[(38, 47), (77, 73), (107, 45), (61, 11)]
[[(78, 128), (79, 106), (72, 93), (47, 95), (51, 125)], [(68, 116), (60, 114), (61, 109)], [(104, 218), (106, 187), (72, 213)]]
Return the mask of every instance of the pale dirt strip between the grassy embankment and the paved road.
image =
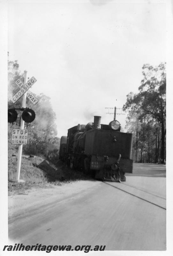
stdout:
[(8, 196), (9, 219), (25, 214), (30, 209), (37, 211), (39, 206), (49, 205), (50, 202), (58, 203), (80, 196), (101, 183), (96, 180), (79, 180), (62, 186), (52, 185), (51, 188), (32, 188), (21, 194)]

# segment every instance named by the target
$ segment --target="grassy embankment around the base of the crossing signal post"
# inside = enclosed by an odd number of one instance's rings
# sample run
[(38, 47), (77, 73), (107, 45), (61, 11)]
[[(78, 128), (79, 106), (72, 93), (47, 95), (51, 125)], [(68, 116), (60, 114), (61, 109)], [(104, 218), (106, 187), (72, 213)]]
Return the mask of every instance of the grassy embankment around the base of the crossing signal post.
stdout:
[(76, 180), (87, 180), (82, 172), (73, 171), (60, 160), (52, 164), (43, 156), (22, 155), (20, 179), (25, 183), (12, 180), (16, 178), (18, 147), (9, 145), (8, 148), (8, 191), (9, 195), (24, 193), (32, 187), (51, 187), (53, 184), (61, 186)]

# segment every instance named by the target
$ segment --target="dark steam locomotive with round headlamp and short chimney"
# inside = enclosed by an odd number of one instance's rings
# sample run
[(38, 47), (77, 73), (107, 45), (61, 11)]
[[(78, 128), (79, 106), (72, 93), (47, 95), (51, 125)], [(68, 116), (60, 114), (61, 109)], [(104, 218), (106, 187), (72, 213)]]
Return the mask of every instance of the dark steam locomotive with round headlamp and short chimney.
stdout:
[(132, 173), (132, 133), (120, 128), (117, 120), (101, 124), (101, 116), (71, 127), (61, 137), (59, 159), (95, 179), (125, 181), (125, 172)]

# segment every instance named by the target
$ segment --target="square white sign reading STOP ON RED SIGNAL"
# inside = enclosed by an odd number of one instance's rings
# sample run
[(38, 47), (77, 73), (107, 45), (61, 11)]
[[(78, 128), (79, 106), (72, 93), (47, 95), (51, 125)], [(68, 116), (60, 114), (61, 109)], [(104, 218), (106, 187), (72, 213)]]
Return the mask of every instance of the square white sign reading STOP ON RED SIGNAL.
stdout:
[(13, 129), (11, 144), (26, 145), (28, 140), (28, 130), (27, 129)]

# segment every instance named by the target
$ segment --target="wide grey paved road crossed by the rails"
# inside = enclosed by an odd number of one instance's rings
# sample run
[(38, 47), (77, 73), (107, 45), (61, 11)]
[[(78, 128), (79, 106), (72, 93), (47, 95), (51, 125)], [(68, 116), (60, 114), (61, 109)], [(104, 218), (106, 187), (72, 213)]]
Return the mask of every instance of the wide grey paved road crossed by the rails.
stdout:
[(164, 165), (134, 164), (124, 183), (96, 181), (78, 196), (9, 218), (9, 237), (23, 244), (165, 250), (165, 174)]

